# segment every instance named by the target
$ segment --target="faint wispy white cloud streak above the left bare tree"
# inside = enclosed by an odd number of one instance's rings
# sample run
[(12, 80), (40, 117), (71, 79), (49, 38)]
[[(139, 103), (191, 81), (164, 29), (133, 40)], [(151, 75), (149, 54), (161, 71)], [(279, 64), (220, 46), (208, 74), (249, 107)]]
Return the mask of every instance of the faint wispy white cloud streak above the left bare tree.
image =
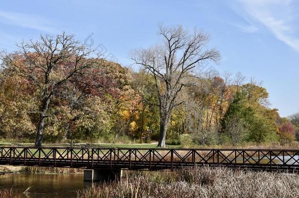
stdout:
[(15, 25), (45, 32), (56, 32), (52, 23), (40, 16), (33, 16), (19, 12), (7, 12), (0, 10), (0, 23)]

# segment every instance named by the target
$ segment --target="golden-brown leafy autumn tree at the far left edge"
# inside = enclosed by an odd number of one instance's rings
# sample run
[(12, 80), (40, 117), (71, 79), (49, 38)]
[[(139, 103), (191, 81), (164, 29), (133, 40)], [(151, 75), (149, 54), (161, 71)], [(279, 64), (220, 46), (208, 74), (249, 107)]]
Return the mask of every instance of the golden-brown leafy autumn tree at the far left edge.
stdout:
[(0, 136), (27, 138), (35, 131), (34, 111), (37, 110), (35, 87), (8, 70), (0, 70)]

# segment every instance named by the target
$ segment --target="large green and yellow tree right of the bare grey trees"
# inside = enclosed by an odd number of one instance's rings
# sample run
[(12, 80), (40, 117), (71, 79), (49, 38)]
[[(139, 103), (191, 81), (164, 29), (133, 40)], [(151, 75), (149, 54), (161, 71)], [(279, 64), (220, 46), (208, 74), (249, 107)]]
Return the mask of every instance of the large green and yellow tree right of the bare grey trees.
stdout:
[[(278, 113), (276, 109), (268, 108), (268, 105), (268, 92), (265, 88), (252, 82), (242, 85), (237, 88), (224, 114), (222, 132), (226, 132), (233, 143), (238, 142), (234, 140), (237, 137), (236, 132), (247, 132), (239, 136), (246, 137), (247, 142), (277, 141)], [(235, 120), (234, 123), (231, 124), (231, 120)], [(242, 122), (245, 130), (236, 122)]]

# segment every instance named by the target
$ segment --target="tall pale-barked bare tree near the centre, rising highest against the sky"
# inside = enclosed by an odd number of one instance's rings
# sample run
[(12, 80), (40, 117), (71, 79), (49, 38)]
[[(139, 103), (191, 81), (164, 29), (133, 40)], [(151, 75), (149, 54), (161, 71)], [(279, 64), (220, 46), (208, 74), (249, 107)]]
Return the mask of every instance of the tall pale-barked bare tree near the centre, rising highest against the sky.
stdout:
[(217, 50), (207, 48), (209, 35), (198, 31), (192, 33), (182, 26), (159, 25), (161, 41), (147, 49), (132, 51), (135, 64), (142, 66), (155, 79), (160, 110), (160, 135), (158, 147), (165, 147), (166, 132), (174, 108), (183, 103), (177, 100), (178, 93), (192, 86), (190, 77), (208, 61), (218, 62)]

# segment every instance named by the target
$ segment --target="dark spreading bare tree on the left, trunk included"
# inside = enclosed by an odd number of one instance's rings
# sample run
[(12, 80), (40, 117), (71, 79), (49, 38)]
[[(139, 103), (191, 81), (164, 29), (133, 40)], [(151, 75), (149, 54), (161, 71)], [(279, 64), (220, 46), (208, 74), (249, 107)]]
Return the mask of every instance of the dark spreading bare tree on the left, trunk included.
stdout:
[(1, 53), (1, 66), (27, 78), (39, 88), (40, 112), (35, 145), (41, 146), (53, 95), (63, 90), (73, 76), (91, 67), (95, 59), (88, 59), (92, 50), (65, 33), (55, 37), (41, 35), (39, 41), (31, 40), (17, 46), (20, 50), (15, 53)]

